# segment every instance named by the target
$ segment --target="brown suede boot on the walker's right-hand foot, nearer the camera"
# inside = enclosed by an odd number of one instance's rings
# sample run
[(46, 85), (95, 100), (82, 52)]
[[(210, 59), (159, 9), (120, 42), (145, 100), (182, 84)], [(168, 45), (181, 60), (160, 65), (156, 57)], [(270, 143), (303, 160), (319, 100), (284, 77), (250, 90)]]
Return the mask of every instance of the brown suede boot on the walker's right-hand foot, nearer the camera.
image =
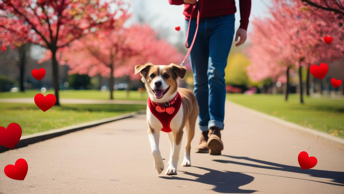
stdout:
[(221, 150), (223, 150), (220, 131), (221, 129), (217, 127), (209, 129), (207, 147), (211, 155), (221, 155)]

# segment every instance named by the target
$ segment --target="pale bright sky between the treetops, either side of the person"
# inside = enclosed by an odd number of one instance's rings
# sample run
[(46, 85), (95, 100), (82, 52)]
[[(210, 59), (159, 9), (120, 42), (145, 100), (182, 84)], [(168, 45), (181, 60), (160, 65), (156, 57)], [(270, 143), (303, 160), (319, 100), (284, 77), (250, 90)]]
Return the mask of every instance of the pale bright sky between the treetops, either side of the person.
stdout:
[[(131, 12), (133, 19), (129, 24), (135, 23), (137, 15), (143, 15), (155, 30), (170, 29), (169, 35), (166, 37), (169, 42), (175, 43), (179, 38), (185, 39), (185, 19), (183, 15), (184, 5), (170, 5), (168, 0), (131, 0)], [(255, 17), (267, 16), (267, 6), (270, 6), (270, 0), (251, 0), (251, 14), (249, 20), (252, 21)], [(239, 0), (235, 0), (237, 12), (235, 13), (235, 31), (240, 25), (240, 10)], [(174, 28), (180, 26), (181, 30), (175, 31)], [(252, 30), (252, 25), (249, 23), (247, 31)], [(182, 33), (182, 35), (180, 34)], [(248, 37), (249, 41), (249, 37)]]

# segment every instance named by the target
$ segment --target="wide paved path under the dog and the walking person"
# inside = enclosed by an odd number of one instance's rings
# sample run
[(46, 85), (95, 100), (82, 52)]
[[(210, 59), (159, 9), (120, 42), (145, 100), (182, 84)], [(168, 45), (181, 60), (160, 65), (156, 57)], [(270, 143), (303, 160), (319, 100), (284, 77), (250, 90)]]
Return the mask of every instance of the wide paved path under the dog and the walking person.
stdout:
[[(344, 151), (229, 102), (225, 116), (223, 155), (192, 152), (178, 175), (153, 168), (143, 114), (0, 153), (0, 193), (344, 193)], [(169, 148), (161, 132), (165, 168)], [(301, 151), (318, 159), (313, 169), (299, 167)], [(2, 171), (19, 158), (24, 181)]]

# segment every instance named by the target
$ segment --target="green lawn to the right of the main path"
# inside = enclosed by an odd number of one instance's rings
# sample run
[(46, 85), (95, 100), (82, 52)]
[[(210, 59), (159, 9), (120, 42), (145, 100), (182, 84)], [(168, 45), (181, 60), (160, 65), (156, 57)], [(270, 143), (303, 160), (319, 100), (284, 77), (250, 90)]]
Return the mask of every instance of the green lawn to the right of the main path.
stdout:
[(288, 102), (283, 95), (227, 94), (227, 100), (248, 108), (282, 118), (304, 127), (344, 138), (344, 99), (304, 97), (291, 94)]

